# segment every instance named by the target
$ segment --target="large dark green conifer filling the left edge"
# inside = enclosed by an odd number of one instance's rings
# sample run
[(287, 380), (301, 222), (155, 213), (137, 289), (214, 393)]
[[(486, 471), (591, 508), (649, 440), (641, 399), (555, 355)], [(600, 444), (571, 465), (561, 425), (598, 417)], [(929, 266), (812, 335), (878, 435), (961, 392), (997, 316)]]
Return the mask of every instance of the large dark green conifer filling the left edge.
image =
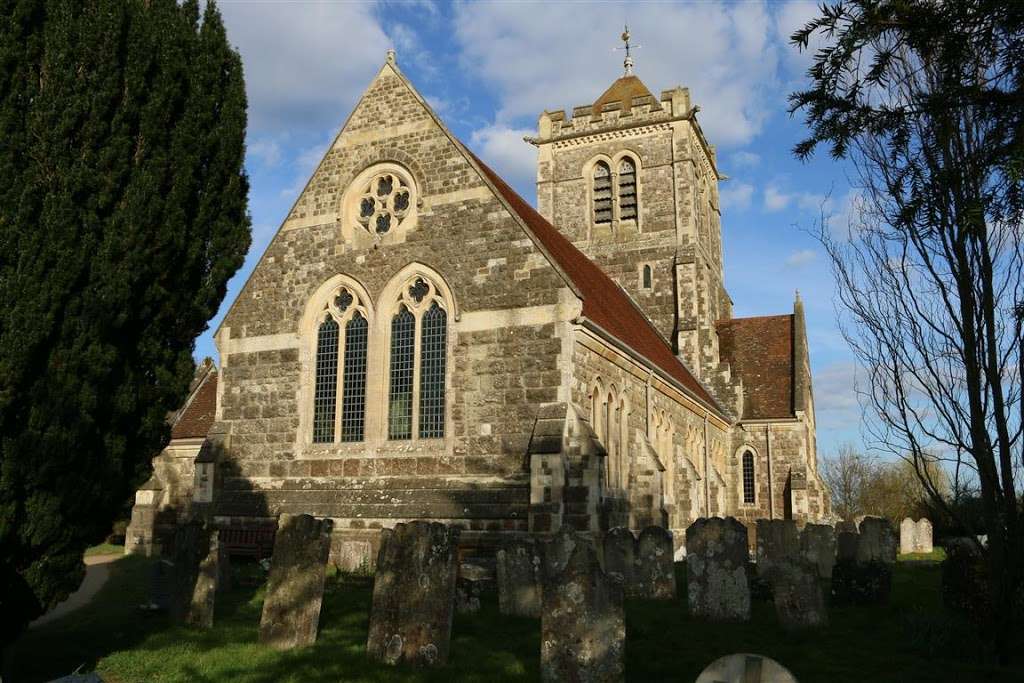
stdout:
[(0, 641), (77, 588), (249, 248), (214, 2), (0, 0)]

